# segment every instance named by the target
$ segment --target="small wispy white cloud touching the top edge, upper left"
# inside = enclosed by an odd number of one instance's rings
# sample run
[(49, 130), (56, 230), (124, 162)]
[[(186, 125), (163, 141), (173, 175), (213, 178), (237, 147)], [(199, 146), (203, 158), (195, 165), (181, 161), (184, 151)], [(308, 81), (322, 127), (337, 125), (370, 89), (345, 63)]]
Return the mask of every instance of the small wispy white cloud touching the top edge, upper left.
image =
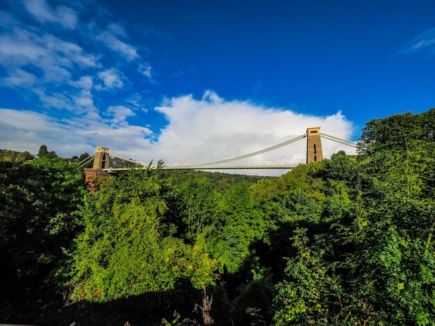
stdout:
[(58, 6), (51, 9), (44, 0), (25, 0), (24, 7), (41, 23), (57, 23), (68, 29), (74, 29), (77, 25), (77, 13), (71, 8)]

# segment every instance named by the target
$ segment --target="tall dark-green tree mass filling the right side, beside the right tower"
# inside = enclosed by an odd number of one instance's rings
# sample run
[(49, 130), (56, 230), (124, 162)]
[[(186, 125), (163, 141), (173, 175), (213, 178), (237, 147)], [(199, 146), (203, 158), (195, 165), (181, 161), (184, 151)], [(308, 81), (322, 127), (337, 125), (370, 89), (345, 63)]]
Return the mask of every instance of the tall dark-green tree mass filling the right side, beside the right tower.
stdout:
[(434, 139), (422, 126), (433, 110), (371, 121), (358, 161), (322, 164), (327, 206), (341, 192), (340, 209), (325, 209), (334, 223), (312, 239), (296, 231), (277, 325), (433, 323)]

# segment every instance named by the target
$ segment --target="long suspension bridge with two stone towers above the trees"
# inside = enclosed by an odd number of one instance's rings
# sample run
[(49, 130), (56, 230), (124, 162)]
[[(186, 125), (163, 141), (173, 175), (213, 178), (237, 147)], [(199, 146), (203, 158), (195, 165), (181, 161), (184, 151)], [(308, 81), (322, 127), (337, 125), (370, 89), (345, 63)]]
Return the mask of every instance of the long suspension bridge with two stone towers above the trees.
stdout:
[[(177, 166), (161, 166), (164, 170), (236, 170), (236, 169), (293, 169), (298, 164), (237, 164), (246, 161), (250, 157), (256, 157), (264, 153), (276, 151), (290, 144), (295, 144), (306, 138), (306, 163), (320, 162), (323, 160), (322, 139), (356, 148), (353, 141), (340, 139), (331, 135), (320, 133), (320, 127), (307, 128), (303, 135), (299, 135), (280, 144), (263, 148), (245, 155), (230, 157), (224, 160), (206, 162), (201, 164), (185, 164)], [(97, 147), (97, 151), (79, 163), (79, 166), (87, 166), (93, 161), (92, 169), (85, 169), (86, 175), (95, 177), (104, 176), (108, 173), (117, 173), (128, 169), (147, 169), (149, 164), (131, 160), (110, 151), (110, 148)], [(290, 162), (290, 160), (286, 160)], [(154, 166), (155, 167), (155, 166)], [(92, 172), (93, 171), (93, 172)]]

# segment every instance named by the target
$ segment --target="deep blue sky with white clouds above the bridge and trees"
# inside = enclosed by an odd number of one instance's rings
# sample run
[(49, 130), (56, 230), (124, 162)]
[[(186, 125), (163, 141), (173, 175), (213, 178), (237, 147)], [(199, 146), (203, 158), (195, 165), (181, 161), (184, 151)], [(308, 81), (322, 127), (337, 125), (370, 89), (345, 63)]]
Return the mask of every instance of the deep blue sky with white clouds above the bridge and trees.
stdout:
[(314, 125), (356, 140), (434, 108), (434, 59), (434, 1), (3, 0), (0, 148), (196, 163)]

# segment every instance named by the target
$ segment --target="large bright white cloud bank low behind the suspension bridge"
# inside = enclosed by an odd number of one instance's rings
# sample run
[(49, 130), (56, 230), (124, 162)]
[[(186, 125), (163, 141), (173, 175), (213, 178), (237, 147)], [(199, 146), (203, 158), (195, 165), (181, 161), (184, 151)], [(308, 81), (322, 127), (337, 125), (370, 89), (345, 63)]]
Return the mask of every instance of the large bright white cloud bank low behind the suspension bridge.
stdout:
[[(344, 139), (350, 139), (353, 132), (352, 123), (341, 112), (314, 117), (248, 101), (226, 101), (213, 92), (206, 92), (200, 100), (192, 96), (171, 98), (155, 110), (165, 114), (168, 120), (160, 135), (131, 125), (127, 119), (135, 113), (124, 105), (108, 108), (111, 119), (106, 121), (98, 114), (88, 113), (61, 124), (44, 114), (0, 109), (0, 148), (35, 151), (33, 148), (47, 144), (61, 155), (72, 156), (83, 151), (93, 152), (94, 146), (107, 146), (115, 153), (140, 162), (163, 159), (167, 165), (176, 165), (252, 153), (302, 135), (306, 128), (313, 126)], [(325, 157), (340, 149), (355, 153), (347, 146), (322, 142)], [(297, 164), (304, 162), (305, 151), (306, 142), (299, 141), (295, 146), (234, 164)], [(274, 175), (282, 171), (260, 173)]]

